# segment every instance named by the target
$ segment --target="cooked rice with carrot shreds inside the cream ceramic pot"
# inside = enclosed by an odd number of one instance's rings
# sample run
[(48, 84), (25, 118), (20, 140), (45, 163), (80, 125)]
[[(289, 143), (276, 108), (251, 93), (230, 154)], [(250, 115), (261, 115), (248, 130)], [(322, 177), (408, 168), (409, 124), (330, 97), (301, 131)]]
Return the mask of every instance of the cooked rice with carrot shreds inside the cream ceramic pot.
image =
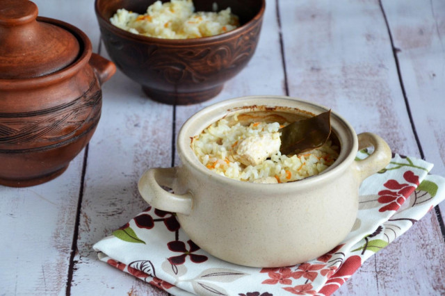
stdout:
[[(235, 117), (236, 118), (236, 117)], [(227, 120), (211, 124), (192, 142), (197, 158), (209, 170), (217, 174), (241, 181), (256, 182), (273, 177), (277, 183), (297, 181), (319, 174), (332, 165), (338, 157), (331, 142), (318, 149), (288, 157), (280, 151), (259, 165), (243, 165), (236, 161), (236, 145), (250, 135), (274, 133), (280, 129), (278, 122), (254, 122), (249, 126), (236, 123), (229, 126)], [(262, 182), (261, 182), (262, 183)]]

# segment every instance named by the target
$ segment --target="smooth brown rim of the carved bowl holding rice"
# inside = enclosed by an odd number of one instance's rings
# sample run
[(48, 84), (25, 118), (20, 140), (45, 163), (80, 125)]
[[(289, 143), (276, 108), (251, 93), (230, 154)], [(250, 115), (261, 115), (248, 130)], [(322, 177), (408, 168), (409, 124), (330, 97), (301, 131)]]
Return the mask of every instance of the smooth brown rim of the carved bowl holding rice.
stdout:
[(113, 31), (113, 33), (115, 33), (116, 35), (120, 35), (121, 37), (124, 37), (127, 39), (137, 40), (140, 42), (147, 42), (147, 43), (156, 43), (156, 44), (167, 45), (167, 46), (168, 45), (188, 46), (188, 45), (206, 44), (206, 43), (215, 42), (218, 40), (225, 40), (225, 39), (232, 38), (236, 35), (243, 33), (243, 31), (246, 31), (248, 28), (254, 26), (255, 22), (262, 19), (263, 15), (264, 15), (264, 11), (266, 10), (266, 0), (261, 0), (261, 7), (259, 8), (259, 12), (257, 13), (257, 15), (254, 15), (254, 17), (252, 17), (252, 19), (250, 19), (249, 22), (246, 22), (242, 26), (239, 26), (238, 28), (235, 28), (232, 31), (229, 31), (229, 32), (226, 32), (223, 34), (209, 36), (209, 37), (190, 38), (190, 39), (168, 39), (168, 38), (149, 37), (149, 36), (145, 36), (145, 35), (136, 35), (136, 34), (130, 33), (129, 31), (125, 31), (122, 28), (118, 28), (117, 26), (114, 26), (113, 24), (111, 24), (109, 19), (106, 19), (104, 17), (104, 15), (102, 14), (102, 11), (99, 10), (99, 2), (100, 1), (104, 1), (104, 0), (95, 0), (95, 13), (99, 20), (99, 25), (102, 22), (103, 24), (105, 24), (106, 28), (109, 31)]

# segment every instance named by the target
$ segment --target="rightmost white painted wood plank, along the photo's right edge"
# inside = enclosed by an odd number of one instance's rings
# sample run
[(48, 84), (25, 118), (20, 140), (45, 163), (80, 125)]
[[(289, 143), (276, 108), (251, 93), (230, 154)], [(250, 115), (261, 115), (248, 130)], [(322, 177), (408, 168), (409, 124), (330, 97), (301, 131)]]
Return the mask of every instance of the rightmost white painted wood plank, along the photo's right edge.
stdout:
[[(445, 3), (382, 1), (406, 99), (432, 174), (445, 176)], [(442, 217), (445, 206), (441, 205)]]

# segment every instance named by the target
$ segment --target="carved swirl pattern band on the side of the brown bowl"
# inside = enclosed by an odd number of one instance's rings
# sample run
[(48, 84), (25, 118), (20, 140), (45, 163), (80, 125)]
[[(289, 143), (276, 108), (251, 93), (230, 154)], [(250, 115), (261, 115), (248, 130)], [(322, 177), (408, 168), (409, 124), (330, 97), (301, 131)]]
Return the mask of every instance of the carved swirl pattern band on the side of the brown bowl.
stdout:
[[(247, 63), (257, 46), (260, 30), (261, 26), (255, 26), (234, 42), (214, 42), (204, 49), (201, 46), (186, 47), (184, 51), (178, 51), (177, 47), (124, 43), (111, 33), (102, 33), (114, 51), (131, 53), (125, 60), (125, 67), (151, 68), (168, 83), (177, 85), (202, 83), (215, 72), (236, 69), (240, 64)], [(119, 61), (116, 63), (120, 65)]]

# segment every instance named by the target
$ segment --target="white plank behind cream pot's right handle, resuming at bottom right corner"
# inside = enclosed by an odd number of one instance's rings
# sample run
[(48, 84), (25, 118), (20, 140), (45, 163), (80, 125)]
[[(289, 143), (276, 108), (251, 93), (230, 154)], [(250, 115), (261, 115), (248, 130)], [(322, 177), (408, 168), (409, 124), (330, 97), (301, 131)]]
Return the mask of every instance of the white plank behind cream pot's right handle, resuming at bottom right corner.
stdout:
[[(394, 152), (419, 157), (379, 1), (279, 3), (291, 96), (330, 106), (358, 133), (378, 133)], [(437, 267), (445, 257), (436, 253), (444, 246), (430, 213), (336, 294), (435, 293), (444, 288)]]

